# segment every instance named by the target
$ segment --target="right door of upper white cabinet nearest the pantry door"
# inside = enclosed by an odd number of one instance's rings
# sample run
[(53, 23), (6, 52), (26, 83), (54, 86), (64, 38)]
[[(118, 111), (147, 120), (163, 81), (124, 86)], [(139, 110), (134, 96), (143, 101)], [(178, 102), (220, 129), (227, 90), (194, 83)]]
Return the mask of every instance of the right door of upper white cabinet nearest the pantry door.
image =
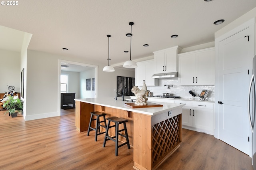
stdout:
[(215, 84), (214, 49), (196, 53), (196, 85)]

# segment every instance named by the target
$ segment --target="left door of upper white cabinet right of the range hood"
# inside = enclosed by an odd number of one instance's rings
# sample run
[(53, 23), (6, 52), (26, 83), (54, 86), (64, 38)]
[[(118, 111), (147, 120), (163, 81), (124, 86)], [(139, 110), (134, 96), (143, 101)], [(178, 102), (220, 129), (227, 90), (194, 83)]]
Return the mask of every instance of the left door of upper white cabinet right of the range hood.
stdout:
[(195, 84), (195, 54), (179, 56), (180, 85)]

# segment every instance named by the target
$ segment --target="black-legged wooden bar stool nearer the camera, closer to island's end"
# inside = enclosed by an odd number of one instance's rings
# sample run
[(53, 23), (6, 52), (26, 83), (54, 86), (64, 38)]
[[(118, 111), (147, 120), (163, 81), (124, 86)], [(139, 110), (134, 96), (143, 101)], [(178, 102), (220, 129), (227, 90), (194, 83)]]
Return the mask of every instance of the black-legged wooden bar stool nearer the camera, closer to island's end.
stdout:
[[(122, 119), (122, 118), (115, 117), (115, 116), (114, 117), (108, 117), (107, 120), (108, 120), (108, 125), (107, 125), (107, 128), (106, 128), (106, 134), (105, 134), (105, 138), (104, 138), (103, 147), (105, 147), (107, 140), (113, 140), (114, 142), (116, 142), (116, 156), (117, 156), (119, 147), (124, 146), (125, 144), (127, 144), (128, 149), (130, 149), (130, 143), (129, 143), (128, 133), (127, 133), (127, 128), (126, 128), (126, 122), (128, 122), (128, 121), (126, 119)], [(114, 122), (115, 125), (110, 126), (110, 122)], [(124, 129), (119, 130), (119, 125), (120, 124), (124, 124)], [(109, 128), (112, 128), (112, 127), (116, 127), (116, 131), (115, 131), (116, 136), (114, 136), (114, 137), (108, 136), (108, 130), (109, 130)], [(125, 132), (125, 135), (120, 133), (122, 131)], [(126, 142), (118, 145), (118, 135), (125, 137)], [(116, 139), (114, 139), (114, 138), (116, 138)]]

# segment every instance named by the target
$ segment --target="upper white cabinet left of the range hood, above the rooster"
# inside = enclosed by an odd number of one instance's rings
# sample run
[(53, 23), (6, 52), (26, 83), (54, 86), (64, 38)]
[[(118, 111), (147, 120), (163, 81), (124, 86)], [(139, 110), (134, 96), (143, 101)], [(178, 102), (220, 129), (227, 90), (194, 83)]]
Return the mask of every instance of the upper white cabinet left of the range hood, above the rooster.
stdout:
[(147, 86), (158, 85), (158, 79), (153, 79), (154, 74), (154, 59), (141, 61), (137, 63), (138, 67), (135, 69), (135, 85), (142, 86), (145, 81)]

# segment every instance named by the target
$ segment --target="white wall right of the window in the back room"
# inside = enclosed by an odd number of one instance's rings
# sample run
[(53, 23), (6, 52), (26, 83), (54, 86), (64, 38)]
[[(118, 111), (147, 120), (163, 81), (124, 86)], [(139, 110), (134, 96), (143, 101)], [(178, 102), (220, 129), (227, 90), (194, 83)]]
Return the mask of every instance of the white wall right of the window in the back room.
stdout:
[(68, 75), (68, 93), (76, 93), (75, 98), (80, 98), (80, 78), (79, 72), (61, 71), (62, 74)]

